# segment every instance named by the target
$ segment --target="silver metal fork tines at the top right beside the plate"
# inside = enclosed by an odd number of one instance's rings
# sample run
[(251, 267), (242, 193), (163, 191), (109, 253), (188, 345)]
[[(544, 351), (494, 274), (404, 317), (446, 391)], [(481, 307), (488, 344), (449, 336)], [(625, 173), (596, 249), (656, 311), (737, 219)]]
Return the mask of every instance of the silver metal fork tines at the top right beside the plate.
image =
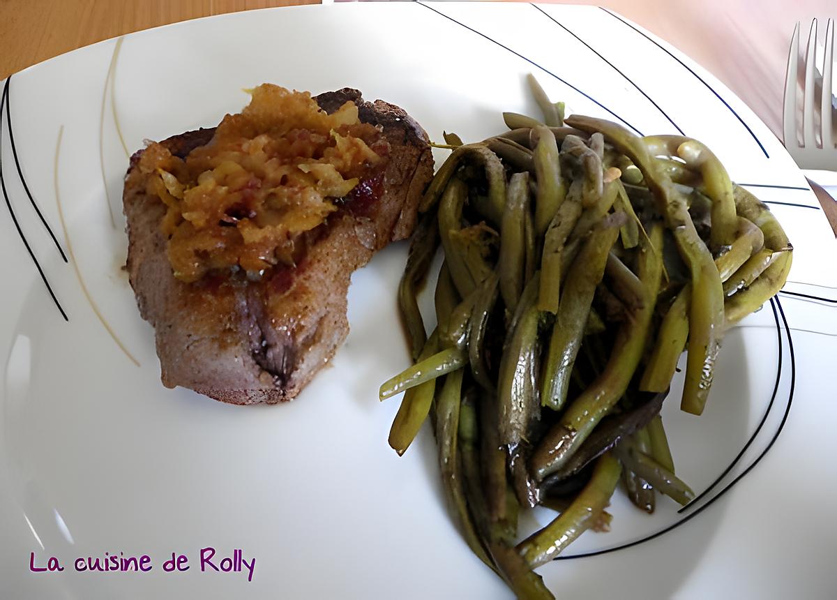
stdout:
[[(805, 86), (803, 90), (802, 142), (797, 137), (797, 62), (799, 56), (799, 23), (793, 29), (793, 38), (788, 53), (788, 74), (785, 77), (782, 125), (784, 145), (799, 167), (837, 171), (837, 147), (834, 147), (832, 129), (832, 68), (834, 64), (834, 21), (829, 18), (825, 28), (825, 60), (822, 74), (822, 94), (819, 105), (814, 105), (817, 74), (817, 19), (811, 23), (808, 49), (805, 51)], [(820, 136), (814, 123), (814, 116), (820, 115)]]

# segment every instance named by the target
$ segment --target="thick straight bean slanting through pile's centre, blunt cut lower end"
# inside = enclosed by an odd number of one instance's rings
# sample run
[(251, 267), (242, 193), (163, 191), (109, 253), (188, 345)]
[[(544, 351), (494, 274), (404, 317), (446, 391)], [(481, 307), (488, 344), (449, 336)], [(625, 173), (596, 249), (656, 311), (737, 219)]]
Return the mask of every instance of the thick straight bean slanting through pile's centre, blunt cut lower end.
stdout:
[(561, 410), (567, 399), (593, 294), (602, 280), (608, 253), (618, 235), (619, 225), (615, 219), (605, 219), (590, 234), (567, 273), (542, 373), (541, 403), (552, 410)]

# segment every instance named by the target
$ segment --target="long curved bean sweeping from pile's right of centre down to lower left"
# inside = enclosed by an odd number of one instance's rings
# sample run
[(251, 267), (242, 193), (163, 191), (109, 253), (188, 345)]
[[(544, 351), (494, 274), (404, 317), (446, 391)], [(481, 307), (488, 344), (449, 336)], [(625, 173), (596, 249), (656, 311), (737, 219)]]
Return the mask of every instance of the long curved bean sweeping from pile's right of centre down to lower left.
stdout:
[(645, 288), (643, 307), (619, 327), (613, 351), (601, 375), (567, 406), (560, 421), (550, 428), (532, 454), (530, 468), (537, 480), (561, 469), (572, 458), (593, 428), (619, 401), (634, 376), (649, 336), (651, 315), (660, 290), (662, 254), (652, 248), (660, 248), (662, 238), (662, 229), (655, 225), (650, 240), (642, 244), (639, 254), (639, 280)]

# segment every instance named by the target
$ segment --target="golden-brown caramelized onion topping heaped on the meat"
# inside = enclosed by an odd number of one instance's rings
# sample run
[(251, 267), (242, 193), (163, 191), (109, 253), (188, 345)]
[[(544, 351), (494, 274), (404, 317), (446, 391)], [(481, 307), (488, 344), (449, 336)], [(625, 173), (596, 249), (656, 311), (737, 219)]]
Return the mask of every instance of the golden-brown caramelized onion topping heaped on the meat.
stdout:
[(251, 93), (185, 160), (156, 142), (141, 155), (146, 192), (167, 207), (161, 227), (182, 281), (293, 267), (303, 234), (380, 177), (388, 156), (382, 131), (352, 102), (328, 115), (307, 92), (263, 84)]

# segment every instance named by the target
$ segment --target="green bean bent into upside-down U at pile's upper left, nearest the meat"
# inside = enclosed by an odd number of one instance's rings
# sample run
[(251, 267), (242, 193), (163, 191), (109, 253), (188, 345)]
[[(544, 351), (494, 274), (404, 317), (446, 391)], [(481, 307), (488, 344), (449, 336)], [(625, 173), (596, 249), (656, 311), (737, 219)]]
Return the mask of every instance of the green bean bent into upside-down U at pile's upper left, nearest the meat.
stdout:
[(480, 162), (485, 168), (485, 177), (488, 179), (488, 203), (485, 209), (492, 216), (493, 223), (500, 223), (506, 204), (506, 171), (500, 158), (485, 144), (465, 144), (450, 153), (424, 191), (424, 197), (419, 203), (419, 213), (427, 213), (434, 208), (465, 158)]

